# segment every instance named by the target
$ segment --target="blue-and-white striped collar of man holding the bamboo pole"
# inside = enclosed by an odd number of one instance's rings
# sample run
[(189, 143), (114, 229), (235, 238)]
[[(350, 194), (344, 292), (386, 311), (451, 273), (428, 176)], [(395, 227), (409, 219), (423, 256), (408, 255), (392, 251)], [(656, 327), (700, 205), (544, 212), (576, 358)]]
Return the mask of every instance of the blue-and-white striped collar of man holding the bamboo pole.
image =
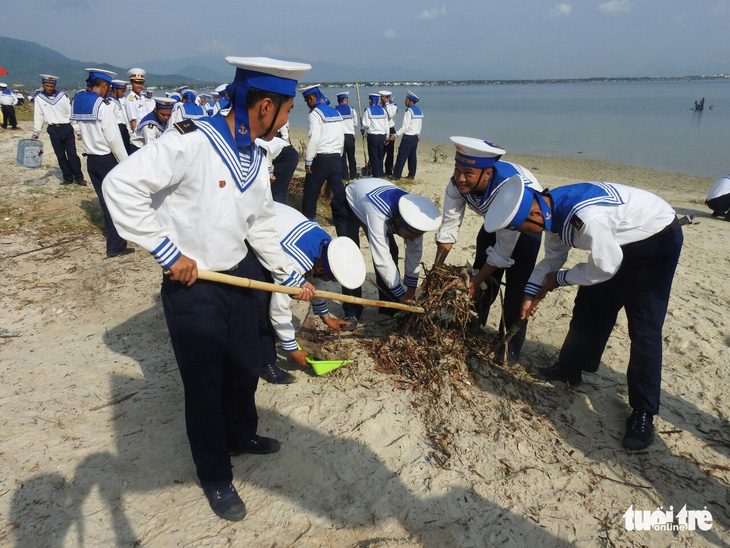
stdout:
[(233, 140), (228, 121), (222, 114), (195, 121), (195, 125), (208, 138), (210, 144), (231, 172), (238, 189), (244, 192), (256, 180), (263, 163), (261, 149), (253, 143), (250, 147), (238, 147)]

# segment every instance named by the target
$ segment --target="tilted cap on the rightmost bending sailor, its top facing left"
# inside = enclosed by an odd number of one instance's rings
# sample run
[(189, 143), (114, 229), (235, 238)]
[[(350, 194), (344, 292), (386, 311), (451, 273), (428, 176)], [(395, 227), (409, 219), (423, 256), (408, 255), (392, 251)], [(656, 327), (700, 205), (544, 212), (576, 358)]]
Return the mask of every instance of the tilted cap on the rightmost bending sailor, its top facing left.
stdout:
[(512, 175), (497, 187), (492, 203), (484, 216), (484, 230), (496, 232), (502, 228), (519, 230), (530, 214), (534, 199), (540, 203), (545, 229), (552, 225), (552, 211), (542, 194), (525, 186), (519, 174)]

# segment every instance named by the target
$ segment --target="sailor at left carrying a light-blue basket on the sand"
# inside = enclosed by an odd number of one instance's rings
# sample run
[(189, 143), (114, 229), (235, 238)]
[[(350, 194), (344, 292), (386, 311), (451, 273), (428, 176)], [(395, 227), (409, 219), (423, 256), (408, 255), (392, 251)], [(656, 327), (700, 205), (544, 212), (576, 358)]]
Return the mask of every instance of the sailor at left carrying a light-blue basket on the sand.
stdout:
[(63, 91), (56, 89), (57, 76), (50, 74), (40, 76), (43, 91), (38, 93), (33, 101), (33, 135), (31, 135), (31, 139), (38, 139), (43, 124), (48, 124), (46, 131), (63, 175), (61, 184), (69, 185), (76, 182), (76, 184), (85, 186), (81, 159), (76, 153), (76, 135), (71, 126), (71, 101)]

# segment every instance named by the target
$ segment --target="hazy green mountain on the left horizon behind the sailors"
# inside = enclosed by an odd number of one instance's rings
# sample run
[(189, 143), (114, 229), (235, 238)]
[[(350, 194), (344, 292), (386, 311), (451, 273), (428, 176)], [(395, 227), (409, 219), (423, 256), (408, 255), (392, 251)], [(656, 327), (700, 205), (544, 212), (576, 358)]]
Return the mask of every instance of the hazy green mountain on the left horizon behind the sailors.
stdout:
[[(115, 67), (108, 63), (96, 61), (75, 61), (50, 48), (28, 42), (0, 36), (0, 67), (8, 74), (0, 76), (0, 80), (11, 87), (24, 87), (30, 91), (40, 87), (39, 74), (58, 76), (58, 87), (64, 90), (84, 87), (86, 67), (111, 70), (118, 74), (120, 80), (127, 79), (127, 68)], [(217, 86), (220, 82), (210, 82), (185, 76), (183, 74), (147, 74), (146, 85), (172, 89), (183, 84), (191, 87)]]

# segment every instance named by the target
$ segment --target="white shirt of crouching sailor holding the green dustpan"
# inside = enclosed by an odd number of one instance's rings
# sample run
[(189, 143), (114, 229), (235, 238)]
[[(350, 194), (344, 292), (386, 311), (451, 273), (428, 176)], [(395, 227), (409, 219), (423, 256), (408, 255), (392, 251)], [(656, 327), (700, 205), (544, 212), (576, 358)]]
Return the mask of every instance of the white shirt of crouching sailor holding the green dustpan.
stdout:
[[(316, 221), (310, 221), (293, 207), (274, 202), (274, 211), (276, 212), (276, 231), (282, 248), (294, 259), (294, 266), (299, 274), (302, 276), (311, 274), (314, 267), (312, 258), (297, 247), (297, 240), (306, 237), (306, 233), (312, 229), (322, 230), (322, 228)], [(322, 281), (313, 276), (307, 277), (307, 281), (317, 289), (322, 285)], [(318, 316), (329, 314), (327, 301), (322, 298), (312, 299), (312, 308)], [(294, 352), (297, 349), (297, 340), (296, 330), (292, 323), (291, 295), (272, 293), (269, 317), (276, 336), (281, 342), (281, 347), (287, 352)]]

